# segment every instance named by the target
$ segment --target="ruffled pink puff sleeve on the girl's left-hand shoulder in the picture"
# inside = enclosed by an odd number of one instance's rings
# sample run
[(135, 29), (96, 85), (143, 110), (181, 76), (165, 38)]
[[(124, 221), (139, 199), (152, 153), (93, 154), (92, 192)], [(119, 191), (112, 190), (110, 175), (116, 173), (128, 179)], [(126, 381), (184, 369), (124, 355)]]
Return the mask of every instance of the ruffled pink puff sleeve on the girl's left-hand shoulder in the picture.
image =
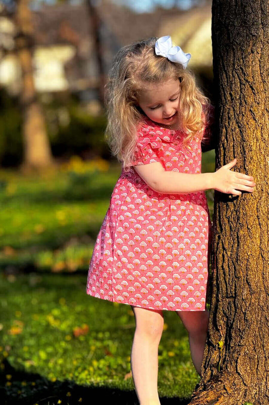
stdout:
[(138, 130), (132, 166), (161, 162), (162, 139), (161, 132), (158, 132), (160, 131), (150, 126), (143, 126)]

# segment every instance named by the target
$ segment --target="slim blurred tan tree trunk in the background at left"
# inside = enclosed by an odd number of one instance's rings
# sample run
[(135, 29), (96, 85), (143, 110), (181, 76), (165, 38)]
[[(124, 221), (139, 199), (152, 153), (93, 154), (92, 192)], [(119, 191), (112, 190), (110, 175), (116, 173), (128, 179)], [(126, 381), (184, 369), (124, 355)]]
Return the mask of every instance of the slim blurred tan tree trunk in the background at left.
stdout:
[(16, 23), (18, 29), (16, 48), (22, 69), (21, 105), (24, 116), (24, 163), (22, 169), (42, 169), (52, 166), (53, 159), (46, 134), (45, 120), (34, 86), (33, 26), (29, 0), (18, 0)]

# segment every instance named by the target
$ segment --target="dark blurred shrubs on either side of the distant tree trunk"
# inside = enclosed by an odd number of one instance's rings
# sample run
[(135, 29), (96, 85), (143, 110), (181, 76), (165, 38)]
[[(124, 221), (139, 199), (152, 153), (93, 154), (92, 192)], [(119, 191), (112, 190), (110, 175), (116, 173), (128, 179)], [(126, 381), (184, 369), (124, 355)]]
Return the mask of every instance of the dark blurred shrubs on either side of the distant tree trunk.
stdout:
[[(73, 97), (43, 103), (47, 134), (55, 157), (111, 157), (104, 141), (105, 115), (92, 116)], [(16, 167), (23, 160), (22, 113), (19, 100), (0, 89), (0, 165)]]

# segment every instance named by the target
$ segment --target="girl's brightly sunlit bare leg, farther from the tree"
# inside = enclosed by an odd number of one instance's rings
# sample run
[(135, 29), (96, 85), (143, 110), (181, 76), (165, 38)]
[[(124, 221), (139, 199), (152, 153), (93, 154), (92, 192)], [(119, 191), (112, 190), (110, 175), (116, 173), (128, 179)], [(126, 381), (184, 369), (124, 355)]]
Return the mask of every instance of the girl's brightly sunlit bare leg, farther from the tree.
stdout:
[(159, 405), (158, 345), (164, 328), (162, 311), (132, 307), (135, 334), (131, 351), (131, 369), (140, 405)]

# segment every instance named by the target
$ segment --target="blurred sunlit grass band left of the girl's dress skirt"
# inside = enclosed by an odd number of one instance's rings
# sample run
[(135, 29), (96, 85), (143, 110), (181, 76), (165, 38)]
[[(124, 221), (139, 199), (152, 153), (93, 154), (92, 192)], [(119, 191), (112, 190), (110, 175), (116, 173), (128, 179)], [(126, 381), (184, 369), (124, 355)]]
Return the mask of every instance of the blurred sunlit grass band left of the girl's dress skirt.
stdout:
[(0, 173), (0, 268), (85, 270), (119, 174)]

